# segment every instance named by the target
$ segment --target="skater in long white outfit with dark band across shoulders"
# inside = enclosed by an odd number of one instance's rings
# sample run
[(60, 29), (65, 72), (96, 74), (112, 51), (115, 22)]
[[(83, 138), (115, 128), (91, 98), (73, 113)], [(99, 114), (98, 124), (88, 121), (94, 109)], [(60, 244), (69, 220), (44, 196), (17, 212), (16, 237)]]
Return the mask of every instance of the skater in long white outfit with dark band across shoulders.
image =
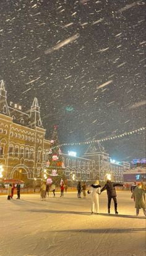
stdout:
[[(99, 213), (99, 197), (98, 194), (100, 194), (100, 185), (99, 185), (99, 181), (95, 181), (95, 183), (93, 184), (94, 186), (96, 186), (96, 188), (91, 187), (90, 190), (88, 191), (88, 194), (91, 194), (91, 201), (92, 201), (92, 207), (91, 207), (91, 213)], [(92, 186), (93, 186), (92, 185)]]

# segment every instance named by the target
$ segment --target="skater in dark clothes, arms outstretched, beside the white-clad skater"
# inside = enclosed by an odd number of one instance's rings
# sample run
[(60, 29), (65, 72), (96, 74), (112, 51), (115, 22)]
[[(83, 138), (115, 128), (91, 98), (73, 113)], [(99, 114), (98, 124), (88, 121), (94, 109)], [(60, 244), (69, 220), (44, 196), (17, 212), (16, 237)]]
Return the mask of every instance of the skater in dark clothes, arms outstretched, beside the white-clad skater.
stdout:
[[(113, 198), (114, 201), (114, 211), (115, 214), (118, 214), (117, 211), (117, 200), (116, 200), (116, 186), (123, 186), (123, 184), (119, 184), (119, 183), (113, 183), (111, 181), (106, 181), (105, 186), (101, 189), (101, 192), (103, 192), (105, 189), (107, 191), (107, 195), (108, 195), (108, 214), (110, 213), (110, 207), (111, 207), (111, 199)], [(93, 185), (93, 187), (95, 187)]]

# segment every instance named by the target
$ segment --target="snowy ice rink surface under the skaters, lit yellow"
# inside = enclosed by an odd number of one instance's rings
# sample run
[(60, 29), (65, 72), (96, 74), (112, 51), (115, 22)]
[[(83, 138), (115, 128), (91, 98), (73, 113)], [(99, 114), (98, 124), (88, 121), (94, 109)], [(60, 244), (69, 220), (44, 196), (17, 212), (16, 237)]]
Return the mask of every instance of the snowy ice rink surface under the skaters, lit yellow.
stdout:
[(135, 216), (130, 191), (118, 191), (118, 216), (113, 202), (108, 216), (106, 192), (98, 215), (90, 214), (90, 195), (15, 198), (0, 196), (0, 256), (145, 256), (145, 217)]

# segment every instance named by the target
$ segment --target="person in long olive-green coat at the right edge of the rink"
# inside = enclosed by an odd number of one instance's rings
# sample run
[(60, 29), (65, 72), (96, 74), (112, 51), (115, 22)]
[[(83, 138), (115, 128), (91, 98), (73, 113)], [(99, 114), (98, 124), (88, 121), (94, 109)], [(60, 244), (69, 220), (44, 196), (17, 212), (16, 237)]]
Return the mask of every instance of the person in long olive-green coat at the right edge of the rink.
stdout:
[(139, 209), (141, 209), (141, 208), (143, 209), (144, 215), (146, 216), (144, 193), (146, 193), (146, 191), (144, 189), (142, 189), (141, 183), (139, 183), (138, 186), (135, 187), (134, 191), (132, 192), (131, 198), (134, 198), (137, 216), (139, 215)]

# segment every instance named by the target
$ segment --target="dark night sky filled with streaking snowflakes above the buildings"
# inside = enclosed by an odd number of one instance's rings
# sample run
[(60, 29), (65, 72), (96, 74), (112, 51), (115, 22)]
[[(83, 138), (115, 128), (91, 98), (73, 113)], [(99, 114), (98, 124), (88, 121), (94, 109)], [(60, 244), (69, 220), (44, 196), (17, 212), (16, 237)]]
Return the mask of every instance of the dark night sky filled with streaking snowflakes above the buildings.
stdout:
[[(134, 0), (1, 0), (0, 78), (7, 100), (37, 97), (46, 135), (90, 141), (145, 126), (145, 4)], [(145, 132), (103, 143), (145, 157)], [(62, 148), (84, 153), (85, 147)]]

